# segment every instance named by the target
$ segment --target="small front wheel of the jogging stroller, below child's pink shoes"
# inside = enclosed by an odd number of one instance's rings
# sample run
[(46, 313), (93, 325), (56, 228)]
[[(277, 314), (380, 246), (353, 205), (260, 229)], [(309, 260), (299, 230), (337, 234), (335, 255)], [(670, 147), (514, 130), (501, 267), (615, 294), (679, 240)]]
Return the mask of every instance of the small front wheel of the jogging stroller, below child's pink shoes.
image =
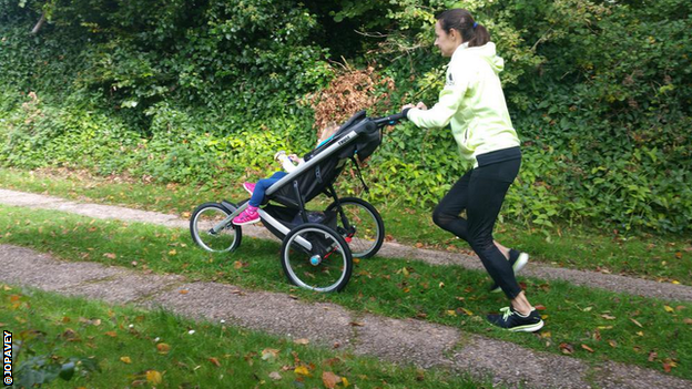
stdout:
[[(234, 207), (226, 203), (226, 206)], [(218, 203), (204, 203), (200, 205), (190, 217), (190, 233), (192, 239), (200, 247), (212, 253), (233, 252), (241, 245), (243, 232), (240, 226), (227, 221), (231, 213), (235, 211), (226, 209)], [(224, 223), (220, 226), (220, 223)], [(217, 227), (217, 232), (214, 228)]]

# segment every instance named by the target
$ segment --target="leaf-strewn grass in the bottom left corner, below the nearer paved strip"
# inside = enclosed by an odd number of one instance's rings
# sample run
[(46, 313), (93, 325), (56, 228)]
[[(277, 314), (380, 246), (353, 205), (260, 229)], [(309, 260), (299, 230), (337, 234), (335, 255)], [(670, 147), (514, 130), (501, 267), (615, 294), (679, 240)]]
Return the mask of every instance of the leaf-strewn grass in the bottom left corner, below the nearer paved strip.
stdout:
[(492, 388), (163, 310), (8, 285), (0, 285), (0, 326), (19, 346), (16, 382), (27, 387), (74, 360), (63, 369), (69, 380), (54, 378), (50, 388)]

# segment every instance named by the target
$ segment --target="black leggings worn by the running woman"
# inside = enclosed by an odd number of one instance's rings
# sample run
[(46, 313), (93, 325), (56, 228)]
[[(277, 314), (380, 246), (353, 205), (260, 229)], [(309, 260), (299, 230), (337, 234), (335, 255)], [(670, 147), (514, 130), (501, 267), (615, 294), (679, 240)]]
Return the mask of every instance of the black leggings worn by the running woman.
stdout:
[[(521, 293), (511, 265), (492, 242), (492, 228), (521, 158), (476, 167), (466, 173), (439, 202), (432, 221), (471, 245), (490, 277), (509, 299)], [(466, 209), (467, 219), (459, 216)]]

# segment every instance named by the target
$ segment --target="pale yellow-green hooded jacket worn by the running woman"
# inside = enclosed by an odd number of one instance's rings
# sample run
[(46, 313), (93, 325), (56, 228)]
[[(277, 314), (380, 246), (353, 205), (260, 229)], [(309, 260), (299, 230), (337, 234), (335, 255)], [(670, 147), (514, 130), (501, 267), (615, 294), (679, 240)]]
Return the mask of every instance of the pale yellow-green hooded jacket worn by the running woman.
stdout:
[(447, 82), (438, 103), (426, 111), (409, 110), (408, 119), (425, 129), (451, 124), (461, 156), (474, 167), (478, 167), (479, 154), (518, 146), (498, 76), (503, 68), (495, 43), (459, 45), (447, 66)]

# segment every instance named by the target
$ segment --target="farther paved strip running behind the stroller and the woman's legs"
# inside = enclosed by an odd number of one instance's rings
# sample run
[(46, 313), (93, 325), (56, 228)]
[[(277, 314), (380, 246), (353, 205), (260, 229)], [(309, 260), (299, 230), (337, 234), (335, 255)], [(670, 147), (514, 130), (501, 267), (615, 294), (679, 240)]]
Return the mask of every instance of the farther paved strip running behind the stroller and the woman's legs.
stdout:
[[(186, 219), (181, 219), (175, 215), (131, 209), (120, 206), (78, 203), (60, 197), (8, 190), (0, 190), (0, 204), (58, 209), (94, 218), (116, 218), (128, 222), (159, 224), (167, 227), (189, 227), (189, 222)], [(244, 227), (243, 234), (255, 237), (274, 238), (266, 229), (257, 226)], [(432, 265), (459, 265), (469, 269), (482, 269), (480, 260), (475, 256), (460, 253), (418, 249), (396, 243), (385, 243), (377, 255), (383, 257), (417, 259)], [(521, 275), (541, 279), (566, 280), (574, 285), (627, 293), (637, 296), (692, 301), (692, 287), (686, 285), (657, 283), (620, 275), (566, 269), (536, 263), (529, 263), (521, 272)]]

